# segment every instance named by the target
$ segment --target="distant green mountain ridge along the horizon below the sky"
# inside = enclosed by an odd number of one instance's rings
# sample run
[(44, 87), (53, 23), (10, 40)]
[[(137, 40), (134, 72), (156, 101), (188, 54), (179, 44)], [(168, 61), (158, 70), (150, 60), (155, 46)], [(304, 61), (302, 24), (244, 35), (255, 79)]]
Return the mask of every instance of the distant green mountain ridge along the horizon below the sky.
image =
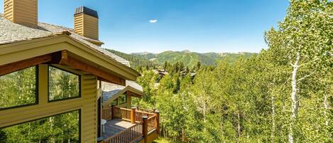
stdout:
[(165, 61), (169, 63), (182, 62), (185, 66), (193, 67), (197, 65), (197, 62), (200, 62), (202, 65), (217, 65), (221, 60), (229, 60), (230, 63), (234, 63), (238, 58), (244, 57), (249, 58), (256, 53), (196, 53), (191, 51), (165, 51), (162, 53), (121, 53), (119, 51), (114, 51), (106, 49), (111, 53), (121, 56), (126, 60), (129, 60), (129, 63), (132, 68), (137, 68), (141, 66), (151, 66), (151, 65), (163, 65)]

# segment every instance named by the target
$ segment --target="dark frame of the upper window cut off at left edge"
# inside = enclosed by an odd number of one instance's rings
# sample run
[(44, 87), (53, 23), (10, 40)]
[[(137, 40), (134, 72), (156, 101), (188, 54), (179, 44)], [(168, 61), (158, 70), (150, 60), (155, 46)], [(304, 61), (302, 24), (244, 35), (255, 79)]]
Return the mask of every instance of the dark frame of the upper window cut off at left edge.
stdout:
[[(15, 108), (18, 108), (18, 107), (28, 107), (28, 106), (32, 106), (32, 105), (38, 105), (39, 104), (39, 99), (38, 99), (38, 95), (39, 95), (39, 66), (38, 65), (33, 65), (31, 67), (28, 67), (28, 68), (32, 68), (32, 67), (35, 67), (35, 80), (36, 80), (36, 84), (35, 84), (35, 99), (36, 101), (33, 102), (33, 103), (29, 103), (29, 104), (26, 104), (26, 105), (17, 105), (17, 106), (11, 106), (11, 107), (4, 107), (4, 108), (1, 108), (0, 107), (0, 111), (2, 110), (11, 110), (11, 109), (15, 109)], [(20, 70), (26, 70), (27, 68), (22, 68)], [(15, 71), (12, 71), (11, 73), (14, 73), (14, 72), (17, 72), (17, 71), (20, 71), (20, 70), (15, 70)], [(11, 73), (7, 73), (7, 74), (4, 74), (4, 75), (9, 75)], [(0, 76), (4, 76), (4, 75), (0, 75)]]

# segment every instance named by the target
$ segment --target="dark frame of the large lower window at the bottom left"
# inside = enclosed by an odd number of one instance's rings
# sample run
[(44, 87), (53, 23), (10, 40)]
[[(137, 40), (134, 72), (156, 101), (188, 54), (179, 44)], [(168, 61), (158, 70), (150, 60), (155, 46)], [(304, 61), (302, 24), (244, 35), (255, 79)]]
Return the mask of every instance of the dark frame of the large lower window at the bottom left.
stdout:
[(38, 119), (35, 119), (35, 120), (29, 120), (29, 121), (26, 121), (26, 122), (20, 122), (20, 123), (17, 123), (17, 124), (14, 124), (14, 125), (9, 125), (9, 126), (5, 126), (5, 127), (0, 127), (0, 129), (4, 129), (6, 127), (13, 127), (13, 126), (16, 126), (16, 125), (21, 125), (21, 124), (25, 124), (27, 122), (34, 122), (34, 121), (37, 121), (37, 120), (43, 120), (45, 118), (48, 118), (48, 117), (55, 117), (57, 115), (62, 115), (62, 114), (67, 114), (67, 113), (70, 113), (70, 112), (79, 112), (79, 121), (78, 121), (78, 124), (79, 125), (79, 142), (81, 142), (81, 132), (82, 132), (82, 124), (81, 124), (81, 121), (82, 121), (82, 112), (81, 112), (81, 108), (80, 109), (76, 109), (76, 110), (70, 110), (70, 111), (67, 111), (67, 112), (60, 112), (58, 114), (55, 114), (55, 115), (50, 115), (50, 116), (46, 116), (46, 117), (40, 117)]

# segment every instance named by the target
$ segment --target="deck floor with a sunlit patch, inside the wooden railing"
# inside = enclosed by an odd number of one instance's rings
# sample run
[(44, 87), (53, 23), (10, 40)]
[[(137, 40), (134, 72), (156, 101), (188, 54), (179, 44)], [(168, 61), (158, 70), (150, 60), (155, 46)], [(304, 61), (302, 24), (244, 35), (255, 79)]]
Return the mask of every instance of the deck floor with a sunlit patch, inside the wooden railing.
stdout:
[(134, 124), (131, 124), (131, 122), (126, 122), (121, 119), (108, 120), (105, 124), (105, 132), (102, 134), (102, 137), (107, 139), (133, 125)]

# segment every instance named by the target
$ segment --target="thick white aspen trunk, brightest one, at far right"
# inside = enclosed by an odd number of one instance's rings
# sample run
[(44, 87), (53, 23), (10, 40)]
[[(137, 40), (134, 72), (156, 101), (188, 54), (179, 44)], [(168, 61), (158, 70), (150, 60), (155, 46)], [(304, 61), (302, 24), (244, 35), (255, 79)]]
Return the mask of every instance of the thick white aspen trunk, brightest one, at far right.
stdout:
[(291, 77), (291, 115), (290, 115), (290, 127), (289, 127), (289, 134), (288, 134), (288, 141), (289, 143), (294, 143), (294, 134), (293, 128), (295, 125), (295, 119), (298, 112), (298, 99), (297, 99), (297, 70), (299, 68), (299, 61), (300, 61), (300, 53), (296, 53), (296, 60), (293, 64), (293, 73)]

